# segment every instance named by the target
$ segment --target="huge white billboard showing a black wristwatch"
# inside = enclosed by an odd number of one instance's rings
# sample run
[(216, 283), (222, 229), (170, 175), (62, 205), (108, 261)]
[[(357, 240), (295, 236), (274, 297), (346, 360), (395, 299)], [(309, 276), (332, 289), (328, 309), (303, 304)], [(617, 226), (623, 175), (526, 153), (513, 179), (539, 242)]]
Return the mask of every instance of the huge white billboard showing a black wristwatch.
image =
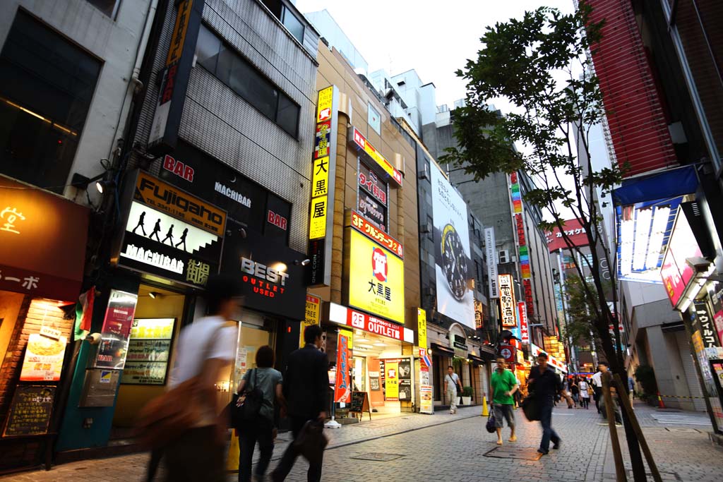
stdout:
[(474, 330), (467, 205), (436, 165), (431, 178), (437, 311)]

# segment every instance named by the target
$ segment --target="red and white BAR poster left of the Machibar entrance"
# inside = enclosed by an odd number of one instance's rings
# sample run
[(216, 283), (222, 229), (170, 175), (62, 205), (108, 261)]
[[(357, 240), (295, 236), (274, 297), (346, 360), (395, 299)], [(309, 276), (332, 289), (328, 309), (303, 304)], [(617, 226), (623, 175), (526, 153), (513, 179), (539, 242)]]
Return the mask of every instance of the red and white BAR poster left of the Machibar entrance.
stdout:
[(137, 301), (137, 294), (111, 290), (103, 328), (100, 330), (95, 368), (123, 369)]

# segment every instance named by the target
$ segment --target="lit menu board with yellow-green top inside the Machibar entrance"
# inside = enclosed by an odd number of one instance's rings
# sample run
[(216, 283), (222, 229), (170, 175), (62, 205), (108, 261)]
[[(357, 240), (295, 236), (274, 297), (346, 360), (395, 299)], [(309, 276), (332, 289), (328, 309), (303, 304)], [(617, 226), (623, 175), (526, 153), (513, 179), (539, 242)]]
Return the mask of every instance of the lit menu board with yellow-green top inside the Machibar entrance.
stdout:
[(121, 384), (166, 384), (175, 324), (175, 318), (133, 320)]

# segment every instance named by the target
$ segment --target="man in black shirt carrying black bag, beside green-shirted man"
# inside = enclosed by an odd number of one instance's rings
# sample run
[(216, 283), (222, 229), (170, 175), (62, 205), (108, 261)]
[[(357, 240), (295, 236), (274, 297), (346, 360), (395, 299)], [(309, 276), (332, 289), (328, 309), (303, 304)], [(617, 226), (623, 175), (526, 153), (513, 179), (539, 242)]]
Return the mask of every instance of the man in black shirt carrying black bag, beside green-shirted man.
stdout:
[(547, 366), (547, 353), (537, 356), (537, 366), (530, 370), (527, 386), (528, 390), (534, 393), (542, 424), (542, 442), (537, 452), (547, 455), (550, 440), (553, 449), (560, 448), (560, 436), (552, 429), (552, 405), (555, 405), (555, 395), (562, 392), (560, 377)]

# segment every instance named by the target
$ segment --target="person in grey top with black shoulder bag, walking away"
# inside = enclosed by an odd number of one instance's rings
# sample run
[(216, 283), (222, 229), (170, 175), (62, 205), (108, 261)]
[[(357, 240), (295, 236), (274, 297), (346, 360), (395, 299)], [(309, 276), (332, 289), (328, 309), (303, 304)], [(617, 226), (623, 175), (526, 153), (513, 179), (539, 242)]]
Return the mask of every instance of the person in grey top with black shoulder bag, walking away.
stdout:
[[(273, 455), (273, 439), (275, 438), (274, 413), (275, 402), (285, 408), (283, 392), (281, 390), (281, 371), (271, 368), (274, 363), (273, 348), (262, 346), (256, 352), (256, 368), (244, 374), (239, 383), (239, 395), (246, 392), (260, 397), (260, 406), (254, 407), (255, 414), (246, 414), (245, 421), (240, 422), (236, 429), (239, 431), (239, 482), (250, 482), (251, 465), (254, 457), (254, 447), (259, 443), (261, 457), (254, 470), (254, 480), (263, 481), (266, 469)], [(244, 402), (239, 397), (239, 406)]]

